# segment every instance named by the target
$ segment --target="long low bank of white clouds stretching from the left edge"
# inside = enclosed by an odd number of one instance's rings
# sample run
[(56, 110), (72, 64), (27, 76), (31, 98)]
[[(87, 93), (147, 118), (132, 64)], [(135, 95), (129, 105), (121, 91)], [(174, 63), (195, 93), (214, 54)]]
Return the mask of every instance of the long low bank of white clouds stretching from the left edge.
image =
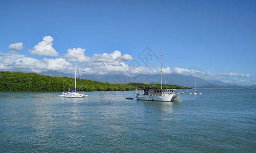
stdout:
[(43, 60), (25, 57), (25, 55), (15, 53), (0, 53), (0, 70), (27, 72), (57, 70), (58, 72), (69, 73), (74, 68), (74, 65), (70, 63), (72, 61), (84, 63), (80, 65), (81, 73), (112, 74), (126, 72), (128, 65), (124, 61), (127, 60), (132, 60), (132, 57), (127, 54), (122, 55), (117, 50), (111, 54), (94, 54), (90, 58), (85, 56), (85, 49), (82, 48), (68, 49), (68, 53), (64, 55), (64, 58), (44, 58)]

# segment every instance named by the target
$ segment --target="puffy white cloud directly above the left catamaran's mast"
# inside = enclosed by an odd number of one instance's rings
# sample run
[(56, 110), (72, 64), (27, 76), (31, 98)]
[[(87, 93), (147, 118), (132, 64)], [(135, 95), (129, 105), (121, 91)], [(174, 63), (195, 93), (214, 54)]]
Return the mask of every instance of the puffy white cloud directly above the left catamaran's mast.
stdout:
[(65, 54), (64, 58), (72, 62), (84, 63), (84, 62), (90, 61), (90, 58), (85, 56), (85, 49), (82, 49), (82, 48), (68, 49), (68, 54)]

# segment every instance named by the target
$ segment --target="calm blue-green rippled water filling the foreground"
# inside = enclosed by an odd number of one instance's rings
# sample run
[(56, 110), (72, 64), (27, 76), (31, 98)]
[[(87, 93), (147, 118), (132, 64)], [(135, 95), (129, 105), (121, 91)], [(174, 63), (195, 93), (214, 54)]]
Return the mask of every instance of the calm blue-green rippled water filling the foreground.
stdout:
[(0, 92), (0, 152), (256, 152), (256, 89), (183, 91), (179, 103)]

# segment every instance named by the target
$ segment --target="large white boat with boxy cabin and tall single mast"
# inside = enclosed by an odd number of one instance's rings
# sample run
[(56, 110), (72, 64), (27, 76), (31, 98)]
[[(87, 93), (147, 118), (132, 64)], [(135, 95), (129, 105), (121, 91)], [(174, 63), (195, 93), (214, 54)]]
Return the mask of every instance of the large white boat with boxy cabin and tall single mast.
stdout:
[(182, 93), (175, 94), (175, 89), (162, 89), (162, 55), (161, 55), (161, 89), (135, 89), (137, 100), (178, 101)]

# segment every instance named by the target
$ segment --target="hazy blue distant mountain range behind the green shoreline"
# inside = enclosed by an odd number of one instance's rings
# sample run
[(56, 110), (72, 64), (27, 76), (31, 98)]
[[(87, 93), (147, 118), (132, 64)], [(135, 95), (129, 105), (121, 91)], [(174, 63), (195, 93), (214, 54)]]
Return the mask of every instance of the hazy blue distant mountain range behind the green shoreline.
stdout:
[[(67, 74), (57, 71), (45, 71), (39, 74), (49, 75), (53, 77), (70, 77), (74, 78), (74, 74)], [(130, 77), (122, 74), (102, 75), (102, 74), (83, 74), (80, 75), (81, 79), (126, 84), (131, 82), (145, 83), (145, 84), (160, 84), (160, 74), (140, 74), (134, 77)], [(181, 74), (164, 74), (163, 84), (179, 85), (184, 87), (194, 87), (194, 77), (181, 75)], [(237, 84), (229, 84), (216, 80), (204, 80), (196, 78), (196, 88), (256, 88), (256, 85), (252, 86), (239, 86)]]

